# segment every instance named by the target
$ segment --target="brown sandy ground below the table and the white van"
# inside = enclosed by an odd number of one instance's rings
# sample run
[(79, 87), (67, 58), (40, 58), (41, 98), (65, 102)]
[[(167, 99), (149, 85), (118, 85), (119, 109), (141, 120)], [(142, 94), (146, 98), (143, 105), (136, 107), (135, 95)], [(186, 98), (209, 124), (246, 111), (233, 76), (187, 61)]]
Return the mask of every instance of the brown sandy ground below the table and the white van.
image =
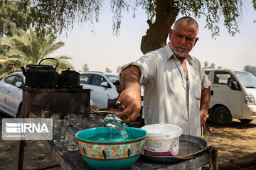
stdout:
[[(9, 117), (0, 113), (0, 119), (2, 118)], [(233, 120), (228, 127), (218, 127), (211, 122), (207, 125), (203, 137), (210, 146), (218, 148), (218, 169), (256, 169), (256, 120), (248, 124)], [(0, 170), (16, 169), (18, 146), (18, 141), (5, 141), (0, 138)], [(23, 169), (56, 163), (42, 142), (26, 142)], [(57, 169), (60, 168), (51, 170)]]

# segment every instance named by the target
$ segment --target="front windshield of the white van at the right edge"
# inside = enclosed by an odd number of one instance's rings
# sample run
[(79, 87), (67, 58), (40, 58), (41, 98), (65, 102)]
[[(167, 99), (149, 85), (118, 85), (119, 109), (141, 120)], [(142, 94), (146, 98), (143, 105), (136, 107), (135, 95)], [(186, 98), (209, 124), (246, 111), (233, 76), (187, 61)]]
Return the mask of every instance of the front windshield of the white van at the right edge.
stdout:
[(235, 72), (235, 75), (238, 76), (242, 85), (246, 88), (255, 88), (256, 89), (256, 77), (250, 72)]

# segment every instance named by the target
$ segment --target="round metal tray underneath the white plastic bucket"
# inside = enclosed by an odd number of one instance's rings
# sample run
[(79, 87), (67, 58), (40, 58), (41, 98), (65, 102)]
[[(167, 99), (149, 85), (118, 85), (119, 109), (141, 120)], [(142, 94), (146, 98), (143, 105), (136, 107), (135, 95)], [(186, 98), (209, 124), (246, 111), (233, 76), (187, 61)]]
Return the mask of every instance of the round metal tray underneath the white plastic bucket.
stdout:
[(179, 137), (178, 155), (170, 157), (156, 157), (143, 154), (141, 158), (159, 163), (178, 163), (199, 157), (208, 147), (208, 142), (201, 137), (181, 135)]

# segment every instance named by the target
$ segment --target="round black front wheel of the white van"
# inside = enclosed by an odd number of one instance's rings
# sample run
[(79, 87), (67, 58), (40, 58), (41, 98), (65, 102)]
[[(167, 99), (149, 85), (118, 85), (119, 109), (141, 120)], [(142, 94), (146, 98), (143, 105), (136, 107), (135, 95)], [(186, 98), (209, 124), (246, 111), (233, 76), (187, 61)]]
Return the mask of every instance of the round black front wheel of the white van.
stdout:
[(232, 122), (232, 115), (228, 108), (220, 106), (214, 111), (214, 119), (218, 125), (230, 125)]

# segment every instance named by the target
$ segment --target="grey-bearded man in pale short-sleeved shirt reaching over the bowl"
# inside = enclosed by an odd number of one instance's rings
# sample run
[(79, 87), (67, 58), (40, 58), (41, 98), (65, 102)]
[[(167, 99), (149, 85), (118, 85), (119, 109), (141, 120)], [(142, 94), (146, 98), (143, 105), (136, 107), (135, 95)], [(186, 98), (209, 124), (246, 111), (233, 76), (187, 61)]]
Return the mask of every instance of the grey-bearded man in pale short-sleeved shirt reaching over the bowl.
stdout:
[(169, 44), (125, 64), (119, 74), (125, 110), (120, 118), (128, 123), (141, 108), (140, 84), (144, 85), (145, 124), (179, 125), (186, 135), (201, 135), (210, 102), (210, 81), (201, 63), (188, 55), (198, 38), (198, 23), (191, 17), (178, 19), (169, 30)]

